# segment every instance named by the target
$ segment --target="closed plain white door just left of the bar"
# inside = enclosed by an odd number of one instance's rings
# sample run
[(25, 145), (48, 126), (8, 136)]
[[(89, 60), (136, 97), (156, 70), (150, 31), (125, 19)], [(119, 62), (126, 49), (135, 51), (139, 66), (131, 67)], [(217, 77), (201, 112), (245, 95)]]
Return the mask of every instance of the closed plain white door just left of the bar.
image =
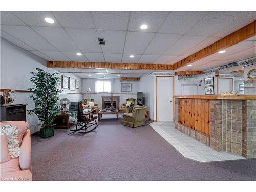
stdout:
[(174, 120), (172, 77), (157, 77), (157, 121)]

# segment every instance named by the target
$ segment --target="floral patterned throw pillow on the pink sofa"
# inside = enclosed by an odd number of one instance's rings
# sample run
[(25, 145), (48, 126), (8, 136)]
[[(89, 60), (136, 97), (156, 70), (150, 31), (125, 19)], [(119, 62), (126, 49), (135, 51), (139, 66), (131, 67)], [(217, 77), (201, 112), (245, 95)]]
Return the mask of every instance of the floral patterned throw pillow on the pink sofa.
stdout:
[(19, 156), (20, 148), (18, 142), (18, 127), (15, 125), (5, 125), (0, 128), (0, 135), (7, 135), (8, 150), (11, 158)]

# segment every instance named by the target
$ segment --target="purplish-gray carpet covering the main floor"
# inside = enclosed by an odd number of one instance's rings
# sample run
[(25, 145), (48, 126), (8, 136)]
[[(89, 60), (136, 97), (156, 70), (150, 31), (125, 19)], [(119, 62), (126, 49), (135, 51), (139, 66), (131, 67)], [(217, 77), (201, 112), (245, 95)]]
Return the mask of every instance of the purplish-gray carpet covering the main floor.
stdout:
[(183, 157), (150, 125), (102, 119), (88, 134), (33, 136), (34, 181), (255, 181), (256, 159), (200, 163)]

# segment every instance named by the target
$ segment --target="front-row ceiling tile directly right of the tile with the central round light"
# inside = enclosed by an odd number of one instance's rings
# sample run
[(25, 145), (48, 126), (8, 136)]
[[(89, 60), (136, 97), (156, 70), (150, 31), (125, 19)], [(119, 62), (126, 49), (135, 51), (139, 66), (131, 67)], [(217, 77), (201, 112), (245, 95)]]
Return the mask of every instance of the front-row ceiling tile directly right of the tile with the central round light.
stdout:
[(185, 34), (206, 14), (204, 11), (172, 11), (158, 32)]

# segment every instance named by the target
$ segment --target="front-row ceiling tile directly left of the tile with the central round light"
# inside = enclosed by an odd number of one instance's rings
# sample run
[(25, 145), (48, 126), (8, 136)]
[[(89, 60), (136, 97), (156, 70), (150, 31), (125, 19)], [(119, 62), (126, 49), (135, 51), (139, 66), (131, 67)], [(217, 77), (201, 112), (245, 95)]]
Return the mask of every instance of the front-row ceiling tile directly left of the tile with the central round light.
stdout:
[(97, 29), (126, 30), (128, 11), (95, 11), (92, 12)]

